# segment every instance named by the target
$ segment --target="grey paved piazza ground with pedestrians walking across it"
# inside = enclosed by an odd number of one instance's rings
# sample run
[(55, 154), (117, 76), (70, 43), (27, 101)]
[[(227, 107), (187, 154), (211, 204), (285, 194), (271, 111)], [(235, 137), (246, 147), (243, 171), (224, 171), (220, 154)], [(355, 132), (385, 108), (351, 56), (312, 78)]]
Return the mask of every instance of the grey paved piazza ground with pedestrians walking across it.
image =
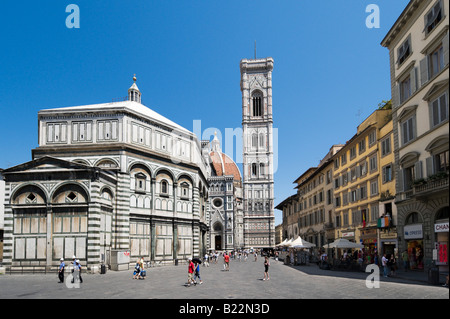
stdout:
[[(338, 272), (316, 265), (286, 266), (271, 260), (270, 280), (263, 281), (263, 260), (232, 260), (223, 271), (220, 259), (201, 267), (202, 285), (186, 287), (187, 265), (148, 269), (145, 280), (133, 280), (130, 271), (83, 274), (80, 288), (58, 284), (56, 274), (0, 276), (1, 299), (448, 299), (449, 290), (425, 282), (381, 278), (380, 288), (366, 287), (368, 273)], [(66, 279), (67, 279), (66, 275)]]

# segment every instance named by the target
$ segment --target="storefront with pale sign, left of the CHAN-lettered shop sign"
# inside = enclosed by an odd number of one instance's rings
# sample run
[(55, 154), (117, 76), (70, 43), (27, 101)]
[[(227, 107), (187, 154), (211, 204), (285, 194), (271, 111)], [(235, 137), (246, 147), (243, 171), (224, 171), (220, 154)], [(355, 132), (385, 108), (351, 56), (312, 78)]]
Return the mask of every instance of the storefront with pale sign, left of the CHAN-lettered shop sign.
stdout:
[(424, 245), (422, 224), (406, 225), (403, 228), (403, 235), (406, 241), (408, 252), (409, 268), (416, 270), (424, 269)]

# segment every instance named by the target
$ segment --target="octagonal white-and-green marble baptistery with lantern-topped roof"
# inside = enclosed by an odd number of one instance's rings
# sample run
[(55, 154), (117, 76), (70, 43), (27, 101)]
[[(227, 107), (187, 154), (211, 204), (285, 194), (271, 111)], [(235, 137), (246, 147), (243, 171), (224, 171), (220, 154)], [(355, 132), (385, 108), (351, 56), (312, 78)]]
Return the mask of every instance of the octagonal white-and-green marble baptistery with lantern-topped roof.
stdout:
[(208, 248), (210, 167), (196, 136), (141, 104), (123, 102), (38, 113), (33, 160), (3, 170), (6, 267), (172, 263)]

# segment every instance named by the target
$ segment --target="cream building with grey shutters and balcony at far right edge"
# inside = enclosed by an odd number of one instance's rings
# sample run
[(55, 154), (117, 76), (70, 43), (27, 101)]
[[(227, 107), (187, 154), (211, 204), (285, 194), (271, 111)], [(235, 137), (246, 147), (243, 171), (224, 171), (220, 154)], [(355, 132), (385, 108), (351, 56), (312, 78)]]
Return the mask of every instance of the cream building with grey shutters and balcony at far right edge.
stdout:
[(448, 44), (443, 0), (411, 0), (381, 42), (390, 61), (399, 246), (412, 269), (436, 263), (448, 271)]

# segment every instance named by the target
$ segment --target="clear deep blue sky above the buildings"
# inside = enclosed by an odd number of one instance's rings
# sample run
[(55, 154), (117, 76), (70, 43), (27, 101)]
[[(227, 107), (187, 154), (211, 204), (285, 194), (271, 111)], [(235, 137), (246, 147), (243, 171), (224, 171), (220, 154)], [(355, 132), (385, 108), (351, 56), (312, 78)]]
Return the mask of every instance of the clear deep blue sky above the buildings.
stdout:
[[(68, 29), (66, 7), (80, 8)], [(407, 0), (8, 1), (0, 12), (0, 168), (31, 160), (37, 112), (110, 102), (136, 73), (143, 104), (183, 127), (241, 127), (239, 62), (271, 56), (275, 205), (390, 99), (380, 42)], [(380, 28), (366, 27), (369, 4)], [(212, 137), (211, 137), (212, 138)], [(240, 150), (237, 150), (240, 151)], [(281, 212), (275, 212), (281, 223)]]

